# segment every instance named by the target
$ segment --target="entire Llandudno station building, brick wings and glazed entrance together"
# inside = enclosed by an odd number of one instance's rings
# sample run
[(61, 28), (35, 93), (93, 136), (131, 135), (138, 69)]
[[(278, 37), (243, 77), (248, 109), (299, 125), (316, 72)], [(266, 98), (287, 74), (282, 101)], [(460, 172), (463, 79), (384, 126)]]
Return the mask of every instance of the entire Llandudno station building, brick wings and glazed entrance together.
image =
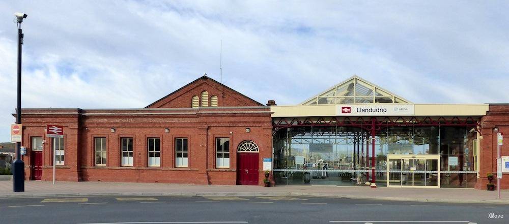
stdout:
[(146, 108), (22, 109), (22, 123), (31, 180), (50, 180), (55, 156), (57, 180), (263, 185), (271, 159), (278, 185), (486, 189), (509, 104), (415, 104), (353, 76), (262, 105), (203, 76)]

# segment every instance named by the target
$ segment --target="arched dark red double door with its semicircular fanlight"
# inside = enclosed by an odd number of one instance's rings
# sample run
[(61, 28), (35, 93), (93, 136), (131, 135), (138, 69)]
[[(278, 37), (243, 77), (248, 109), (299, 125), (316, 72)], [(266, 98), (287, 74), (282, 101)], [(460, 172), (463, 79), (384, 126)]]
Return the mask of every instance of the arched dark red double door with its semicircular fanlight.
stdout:
[(258, 185), (258, 146), (250, 140), (237, 148), (237, 184)]

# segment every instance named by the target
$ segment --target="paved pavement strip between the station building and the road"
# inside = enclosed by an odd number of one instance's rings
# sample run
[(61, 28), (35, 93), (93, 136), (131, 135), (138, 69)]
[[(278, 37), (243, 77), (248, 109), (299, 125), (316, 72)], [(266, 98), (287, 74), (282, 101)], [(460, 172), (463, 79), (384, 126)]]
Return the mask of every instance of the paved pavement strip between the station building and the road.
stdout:
[(0, 181), (0, 198), (55, 197), (93, 195), (162, 195), (162, 196), (319, 196), (395, 201), (461, 202), (509, 204), (509, 190), (477, 190), (472, 188), (392, 188), (337, 186), (246, 186), (192, 185), (165, 183), (56, 182), (25, 181), (25, 191), (12, 192), (12, 181)]

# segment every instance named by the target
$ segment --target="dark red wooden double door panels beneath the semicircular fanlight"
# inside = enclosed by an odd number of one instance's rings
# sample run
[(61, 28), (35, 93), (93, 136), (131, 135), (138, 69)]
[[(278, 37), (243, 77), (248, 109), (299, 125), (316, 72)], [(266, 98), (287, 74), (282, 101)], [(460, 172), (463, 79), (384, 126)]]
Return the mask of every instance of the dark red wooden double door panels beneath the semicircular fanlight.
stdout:
[(237, 183), (258, 185), (258, 153), (237, 153)]

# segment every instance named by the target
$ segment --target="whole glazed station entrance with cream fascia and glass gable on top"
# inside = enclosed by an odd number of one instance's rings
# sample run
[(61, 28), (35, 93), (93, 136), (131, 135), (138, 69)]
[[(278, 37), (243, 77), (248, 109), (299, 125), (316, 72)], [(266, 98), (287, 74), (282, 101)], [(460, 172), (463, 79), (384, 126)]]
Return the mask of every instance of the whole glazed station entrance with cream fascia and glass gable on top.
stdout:
[(272, 106), (277, 184), (473, 187), (487, 105), (413, 104), (353, 76)]

